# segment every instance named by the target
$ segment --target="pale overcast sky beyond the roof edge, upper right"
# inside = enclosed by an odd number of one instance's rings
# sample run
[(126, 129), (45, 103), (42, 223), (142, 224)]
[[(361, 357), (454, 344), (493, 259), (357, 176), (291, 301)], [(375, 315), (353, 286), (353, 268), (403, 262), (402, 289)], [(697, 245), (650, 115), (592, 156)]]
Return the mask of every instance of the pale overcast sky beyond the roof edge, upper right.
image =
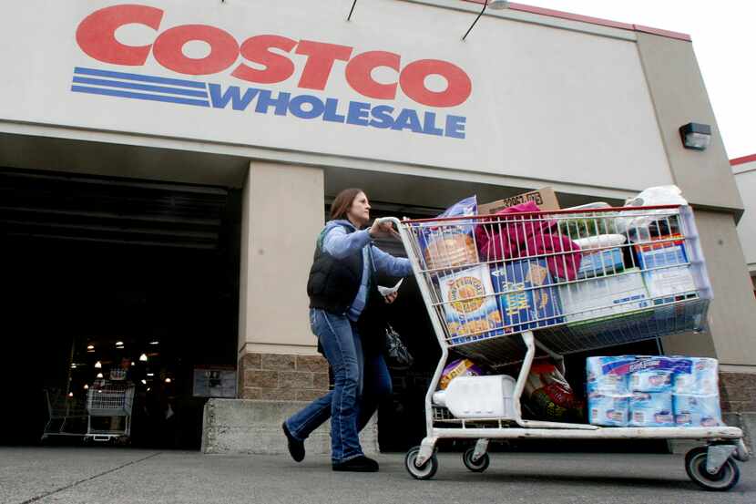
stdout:
[(730, 159), (756, 154), (754, 0), (518, 0), (687, 33)]

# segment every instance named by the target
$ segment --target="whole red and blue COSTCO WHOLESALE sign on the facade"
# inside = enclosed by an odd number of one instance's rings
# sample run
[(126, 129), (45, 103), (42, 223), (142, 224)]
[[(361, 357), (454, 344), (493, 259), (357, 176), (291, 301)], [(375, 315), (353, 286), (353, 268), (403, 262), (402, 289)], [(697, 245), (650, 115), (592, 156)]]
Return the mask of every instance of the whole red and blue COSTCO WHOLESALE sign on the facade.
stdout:
[[(259, 114), (339, 122), (375, 129), (406, 130), (414, 133), (465, 138), (463, 116), (445, 114), (444, 109), (460, 106), (472, 94), (472, 81), (465, 70), (440, 59), (405, 61), (389, 51), (358, 53), (352, 46), (315, 40), (297, 40), (280, 35), (252, 35), (237, 40), (217, 26), (191, 24), (162, 26), (165, 12), (148, 5), (114, 5), (87, 15), (77, 26), (77, 44), (95, 60), (123, 67), (142, 67), (150, 54), (158, 65), (177, 78), (140, 73), (77, 67), (71, 90), (117, 98), (136, 98), (208, 108), (231, 108)], [(120, 43), (116, 31), (138, 24), (155, 32), (142, 46)], [(188, 57), (189, 42), (209, 46), (205, 57)], [(293, 58), (289, 55), (299, 55)], [(345, 62), (342, 75), (334, 75), (334, 64)], [(297, 68), (297, 63), (301, 68)], [(393, 82), (378, 82), (373, 70), (388, 69)], [(301, 70), (296, 87), (302, 91), (274, 92), (253, 86), (230, 86), (201, 82), (197, 76), (228, 72), (230, 77), (252, 85), (280, 84)], [(442, 77), (443, 90), (426, 85), (427, 77)], [(343, 101), (312, 94), (324, 91), (332, 78), (340, 78), (361, 101)], [(437, 77), (436, 77), (437, 78)], [(392, 101), (402, 93), (418, 108), (398, 108), (375, 104)], [(430, 109), (429, 109), (430, 108)]]

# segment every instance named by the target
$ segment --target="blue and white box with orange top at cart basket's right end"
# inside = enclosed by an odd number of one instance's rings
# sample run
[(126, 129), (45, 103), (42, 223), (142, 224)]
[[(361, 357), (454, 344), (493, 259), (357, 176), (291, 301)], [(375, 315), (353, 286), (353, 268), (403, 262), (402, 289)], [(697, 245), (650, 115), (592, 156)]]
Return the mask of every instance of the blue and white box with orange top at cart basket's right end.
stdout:
[(690, 265), (686, 264), (688, 254), (685, 252), (685, 241), (682, 240), (682, 236), (671, 234), (653, 237), (651, 240), (664, 242), (638, 244), (635, 245), (635, 251), (639, 266), (644, 270), (643, 278), (650, 296), (654, 298), (654, 303), (669, 303), (683, 297), (694, 296), (696, 283), (690, 272)]

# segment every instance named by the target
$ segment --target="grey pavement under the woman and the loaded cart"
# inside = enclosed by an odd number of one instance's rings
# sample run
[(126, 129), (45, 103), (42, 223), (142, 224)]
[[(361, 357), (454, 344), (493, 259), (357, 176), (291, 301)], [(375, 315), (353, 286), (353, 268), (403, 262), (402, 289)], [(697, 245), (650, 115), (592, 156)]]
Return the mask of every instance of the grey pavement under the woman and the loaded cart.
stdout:
[(0, 447), (0, 503), (752, 503), (756, 463), (725, 493), (698, 489), (678, 455), (492, 453), (485, 473), (461, 454), (439, 454), (433, 480), (417, 481), (404, 455), (381, 471), (334, 473), (330, 459), (220, 456), (114, 447)]

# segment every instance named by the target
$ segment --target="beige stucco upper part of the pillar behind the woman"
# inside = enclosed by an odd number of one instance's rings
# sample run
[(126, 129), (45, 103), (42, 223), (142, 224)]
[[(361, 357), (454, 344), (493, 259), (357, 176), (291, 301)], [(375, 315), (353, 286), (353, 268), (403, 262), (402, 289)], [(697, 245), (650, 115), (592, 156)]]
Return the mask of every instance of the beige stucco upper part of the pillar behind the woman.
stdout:
[(242, 204), (240, 354), (314, 354), (305, 285), (323, 225), (323, 172), (253, 161)]

